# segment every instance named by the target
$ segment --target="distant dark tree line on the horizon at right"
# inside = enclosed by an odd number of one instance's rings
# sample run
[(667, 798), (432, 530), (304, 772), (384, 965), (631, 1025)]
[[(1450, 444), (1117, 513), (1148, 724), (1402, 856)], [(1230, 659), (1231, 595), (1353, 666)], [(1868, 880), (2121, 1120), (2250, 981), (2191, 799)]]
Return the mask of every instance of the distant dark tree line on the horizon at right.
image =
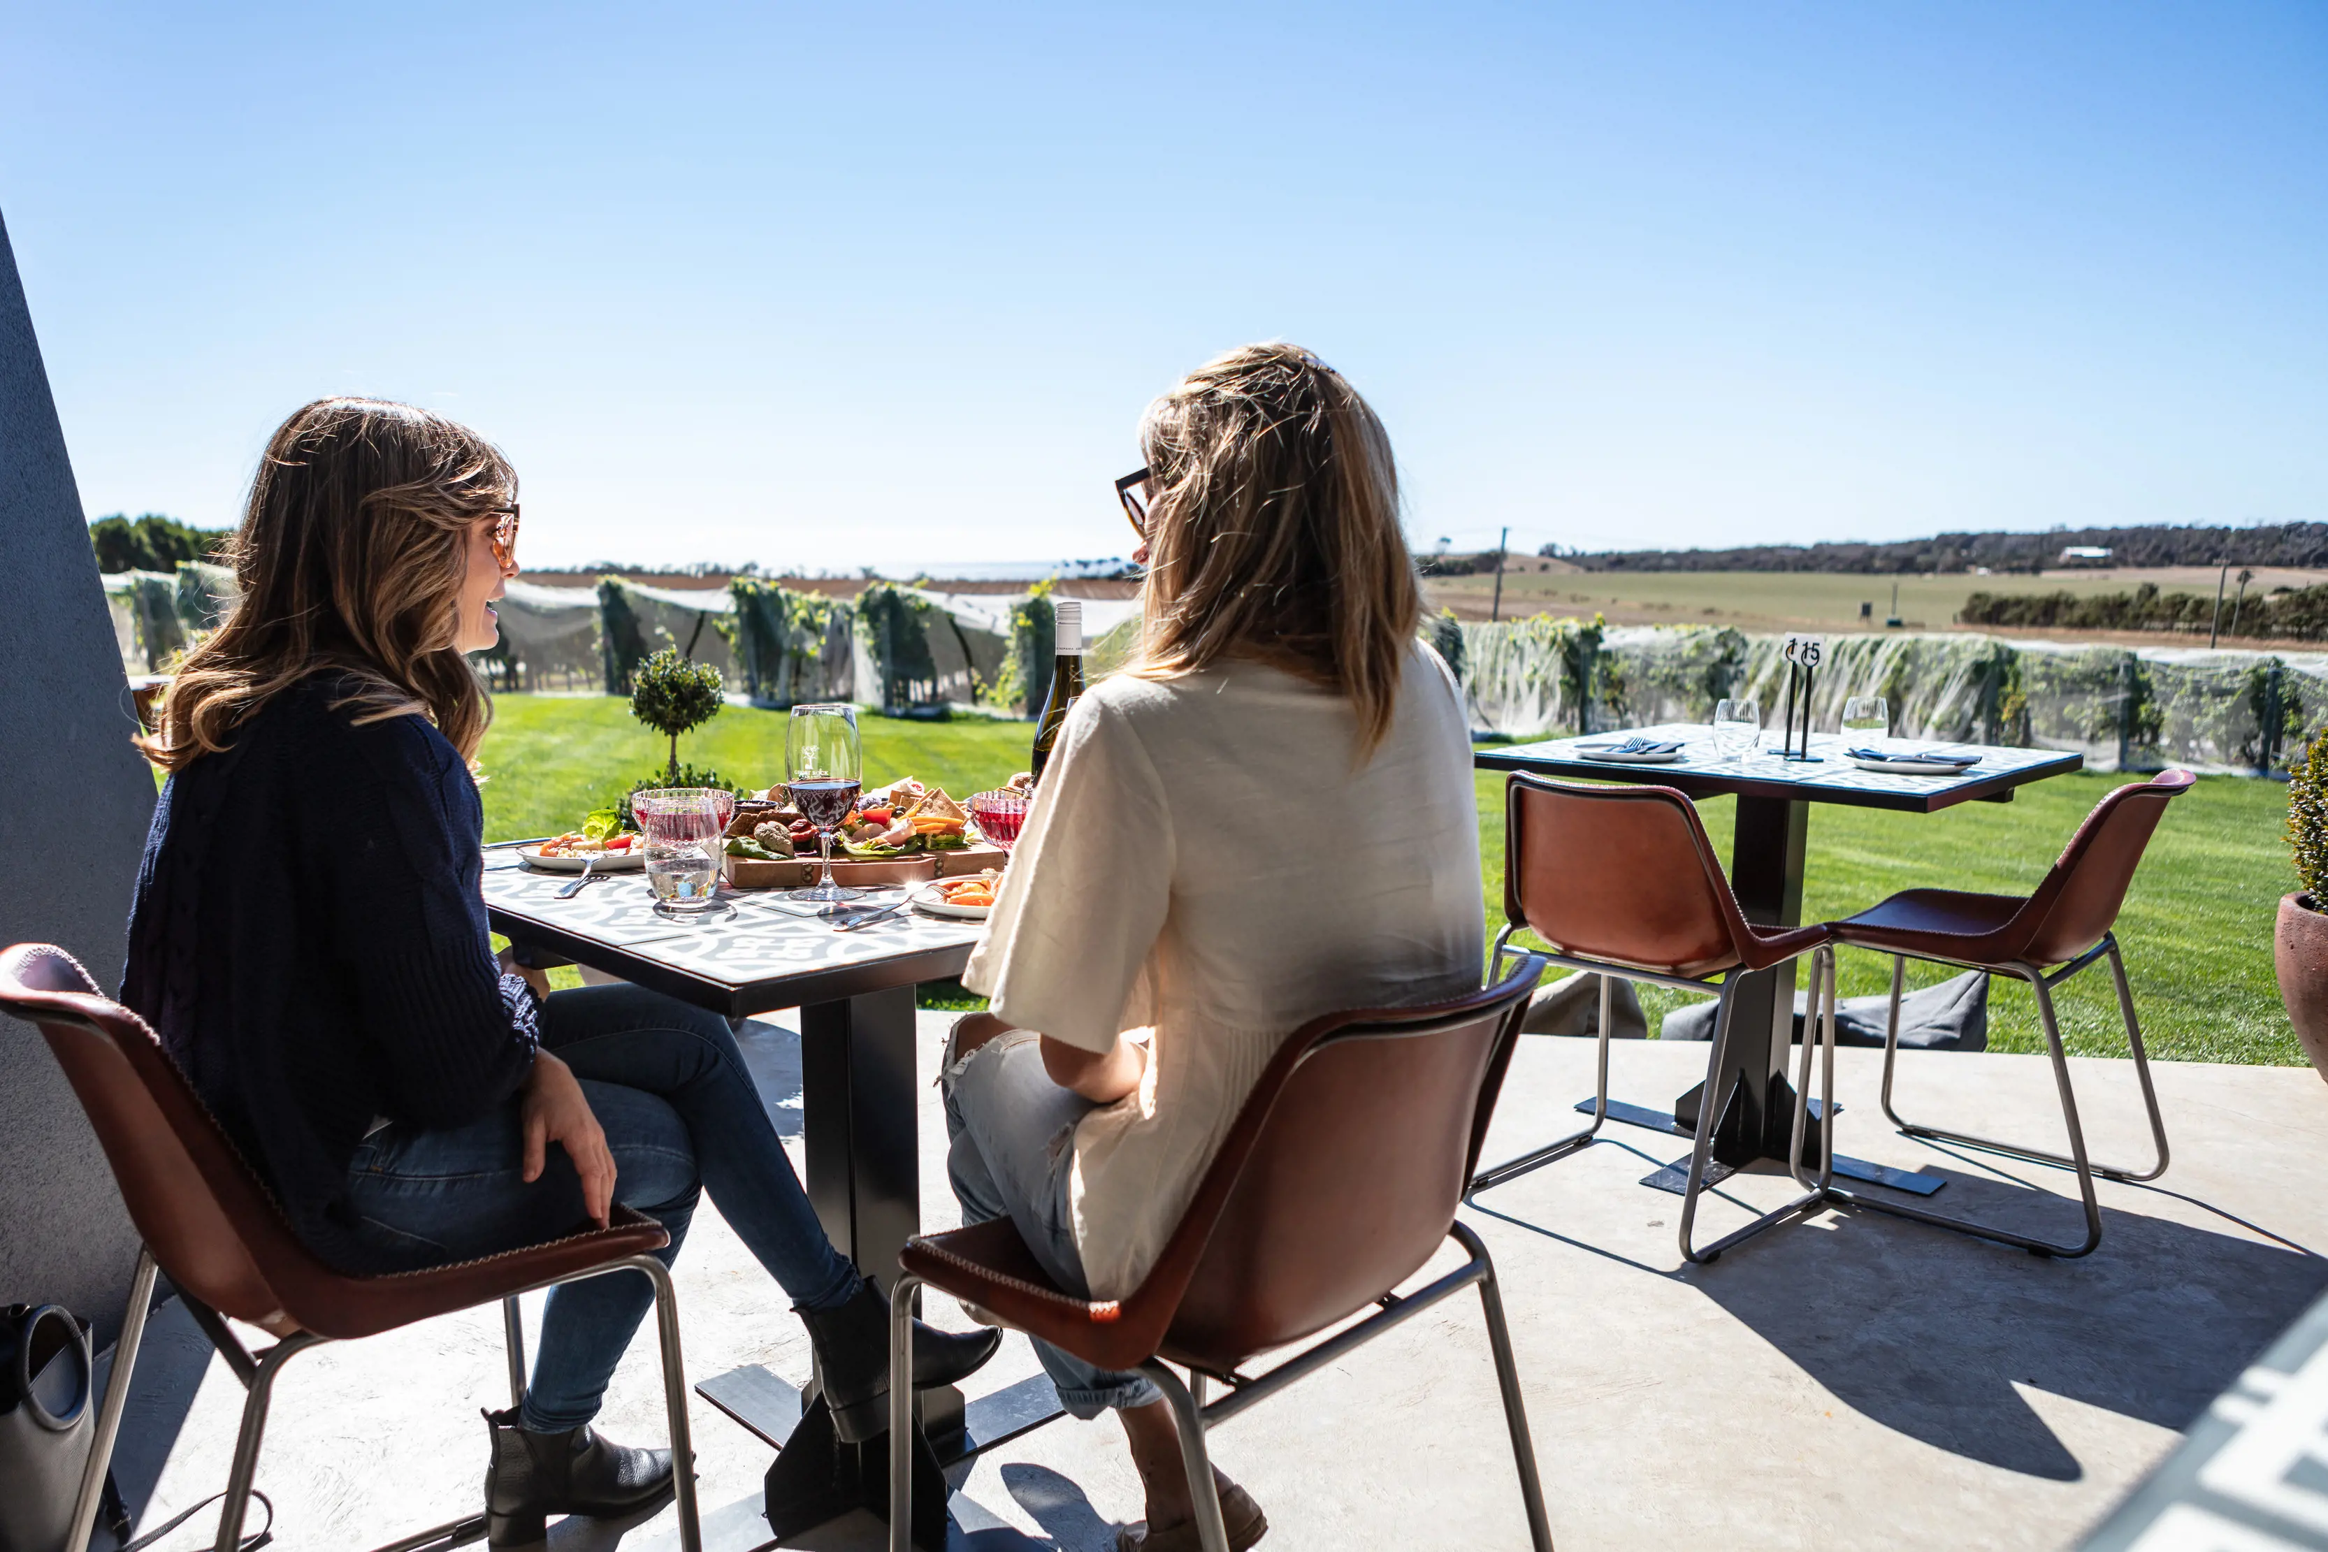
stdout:
[(2107, 549), (2111, 565), (2328, 565), (2328, 524), (2272, 524), (2263, 528), (2051, 528), (2046, 533), (1937, 533), (1928, 540), (1837, 544), (1741, 544), (1737, 549), (1616, 549), (1569, 554), (1546, 544), (1585, 570), (1769, 570), (1769, 572), (1862, 572), (1874, 577), (1911, 572), (2039, 572), (2060, 565), (2063, 549)]

